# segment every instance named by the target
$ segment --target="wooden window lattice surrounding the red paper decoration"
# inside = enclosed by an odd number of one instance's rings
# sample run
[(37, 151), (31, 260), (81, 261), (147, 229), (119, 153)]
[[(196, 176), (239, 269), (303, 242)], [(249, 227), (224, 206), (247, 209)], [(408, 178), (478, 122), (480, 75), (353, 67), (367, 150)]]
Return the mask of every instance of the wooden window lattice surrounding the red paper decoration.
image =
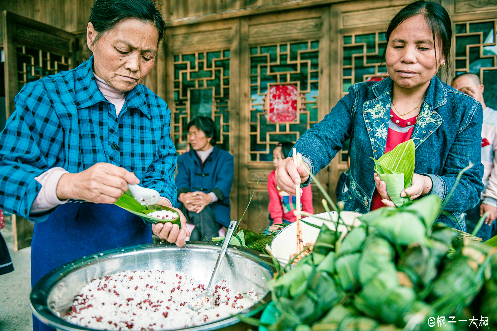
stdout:
[[(319, 42), (280, 43), (250, 48), (250, 161), (271, 161), (277, 142), (295, 142), (318, 123)], [(296, 119), (269, 119), (269, 90), (293, 85), (297, 90)]]

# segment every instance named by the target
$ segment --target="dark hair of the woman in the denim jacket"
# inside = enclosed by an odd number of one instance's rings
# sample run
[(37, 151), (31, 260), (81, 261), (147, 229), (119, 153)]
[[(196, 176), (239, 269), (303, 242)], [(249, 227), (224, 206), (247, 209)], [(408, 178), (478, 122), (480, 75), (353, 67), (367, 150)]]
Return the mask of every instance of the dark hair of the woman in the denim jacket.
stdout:
[[(385, 52), (383, 53), (383, 57), (385, 58), (386, 49), (388, 47), (388, 42), (390, 40), (390, 35), (392, 31), (395, 30), (399, 24), (404, 22), (406, 19), (416, 16), (422, 15), (426, 20), (426, 23), (431, 28), (431, 33), (433, 36), (433, 46), (435, 47), (435, 57), (438, 58), (437, 55), (437, 44), (435, 43), (435, 36), (438, 37), (438, 40), (442, 43), (442, 55), (445, 58), (445, 67), (448, 73), (450, 67), (450, 47), (452, 45), (452, 22), (450, 21), (450, 16), (447, 13), (447, 10), (440, 4), (432, 1), (414, 1), (404, 8), (402, 8), (390, 21), (388, 24), (388, 29), (386, 33), (387, 44), (385, 46)], [(451, 74), (449, 74), (451, 76)]]

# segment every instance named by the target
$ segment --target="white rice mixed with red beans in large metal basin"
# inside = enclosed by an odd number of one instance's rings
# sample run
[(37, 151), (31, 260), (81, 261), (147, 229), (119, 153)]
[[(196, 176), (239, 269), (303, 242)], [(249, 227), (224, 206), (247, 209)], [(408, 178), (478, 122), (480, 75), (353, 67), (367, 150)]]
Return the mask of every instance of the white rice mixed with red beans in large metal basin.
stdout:
[(212, 323), (251, 307), (252, 291), (234, 293), (226, 280), (215, 286), (215, 306), (193, 311), (188, 303), (207, 285), (170, 271), (121, 271), (83, 287), (66, 320), (98, 330), (157, 331)]

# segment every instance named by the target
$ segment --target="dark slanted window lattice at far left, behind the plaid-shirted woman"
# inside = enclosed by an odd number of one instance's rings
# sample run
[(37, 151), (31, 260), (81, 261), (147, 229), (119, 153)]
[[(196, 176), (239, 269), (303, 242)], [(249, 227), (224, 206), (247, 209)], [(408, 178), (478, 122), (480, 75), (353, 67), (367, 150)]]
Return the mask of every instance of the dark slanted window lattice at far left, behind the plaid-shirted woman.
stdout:
[(19, 89), (26, 83), (38, 80), (44, 76), (69, 70), (71, 58), (51, 52), (17, 45), (17, 80)]

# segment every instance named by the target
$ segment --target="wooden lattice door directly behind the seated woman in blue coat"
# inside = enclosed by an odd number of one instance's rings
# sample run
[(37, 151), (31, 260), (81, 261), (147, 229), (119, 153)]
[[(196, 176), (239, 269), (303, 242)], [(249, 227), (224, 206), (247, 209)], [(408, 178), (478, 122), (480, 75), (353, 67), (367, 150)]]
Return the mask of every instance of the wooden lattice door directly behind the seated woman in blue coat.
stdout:
[[(231, 216), (238, 217), (239, 90), (236, 20), (169, 28), (163, 65), (165, 100), (171, 109), (171, 137), (178, 154), (189, 150), (187, 123), (196, 115), (212, 118), (217, 147), (235, 157)], [(159, 77), (161, 79), (161, 77)], [(161, 94), (161, 91), (159, 91)]]

